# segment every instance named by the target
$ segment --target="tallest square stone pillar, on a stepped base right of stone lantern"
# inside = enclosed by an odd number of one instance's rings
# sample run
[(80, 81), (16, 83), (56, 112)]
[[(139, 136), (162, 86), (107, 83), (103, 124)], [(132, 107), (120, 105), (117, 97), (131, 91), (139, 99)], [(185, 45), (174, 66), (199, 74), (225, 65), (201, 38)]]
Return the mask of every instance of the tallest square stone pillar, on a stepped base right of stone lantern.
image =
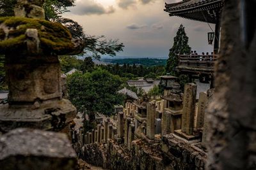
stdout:
[(183, 99), (183, 114), (181, 132), (193, 135), (196, 104), (196, 85), (188, 83), (185, 85)]

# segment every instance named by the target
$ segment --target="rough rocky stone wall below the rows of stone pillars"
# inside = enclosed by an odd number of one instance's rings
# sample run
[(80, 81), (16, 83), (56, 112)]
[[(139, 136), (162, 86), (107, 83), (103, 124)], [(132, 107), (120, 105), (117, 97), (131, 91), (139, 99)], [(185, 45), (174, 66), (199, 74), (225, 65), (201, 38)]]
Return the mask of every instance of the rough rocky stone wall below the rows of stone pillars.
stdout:
[[(198, 143), (197, 143), (198, 144)], [(196, 145), (196, 144), (195, 144)], [(172, 134), (163, 139), (132, 141), (131, 151), (108, 139), (104, 145), (84, 146), (83, 159), (95, 166), (109, 169), (204, 169), (206, 154), (195, 145)]]

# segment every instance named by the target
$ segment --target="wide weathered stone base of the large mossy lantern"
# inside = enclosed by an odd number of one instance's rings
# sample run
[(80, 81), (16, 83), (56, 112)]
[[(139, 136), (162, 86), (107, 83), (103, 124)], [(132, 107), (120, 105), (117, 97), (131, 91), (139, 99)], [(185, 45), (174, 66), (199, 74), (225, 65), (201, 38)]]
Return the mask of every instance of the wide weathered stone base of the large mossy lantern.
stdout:
[(0, 131), (31, 127), (58, 131), (76, 117), (76, 108), (66, 99), (36, 102), (33, 105), (0, 106)]

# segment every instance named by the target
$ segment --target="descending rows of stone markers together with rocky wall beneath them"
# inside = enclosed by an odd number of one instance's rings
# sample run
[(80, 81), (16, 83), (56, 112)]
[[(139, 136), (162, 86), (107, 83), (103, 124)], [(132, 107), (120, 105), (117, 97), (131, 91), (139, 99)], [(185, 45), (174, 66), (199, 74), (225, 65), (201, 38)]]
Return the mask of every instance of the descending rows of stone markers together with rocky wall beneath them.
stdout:
[[(127, 157), (131, 156), (129, 161), (133, 164), (135, 160), (132, 157), (137, 154), (136, 157), (144, 159), (142, 155), (138, 156), (138, 153), (144, 152), (145, 148), (154, 150), (157, 146), (157, 148), (162, 148), (157, 151), (160, 152), (159, 155), (164, 153), (167, 157), (173, 154), (172, 151), (183, 154), (182, 150), (188, 151), (191, 158), (200, 155), (196, 158), (197, 163), (193, 159), (180, 161), (180, 158), (176, 156), (174, 159), (182, 166), (186, 164), (185, 167), (191, 167), (191, 169), (195, 166), (198, 169), (200, 167), (204, 169), (206, 153), (202, 146), (205, 146), (205, 138), (207, 138), (205, 108), (211, 99), (213, 90), (200, 93), (196, 110), (196, 85), (187, 84), (184, 94), (178, 90), (178, 85), (175, 86), (164, 92), (161, 101), (139, 99), (141, 101), (136, 103), (126, 103), (124, 111), (119, 111), (116, 118), (111, 120), (116, 120), (116, 122), (106, 119), (92, 131), (83, 132), (83, 129), (72, 131), (72, 143), (78, 155), (83, 155), (81, 158), (97, 166), (108, 164), (111, 167), (115, 165), (115, 161), (120, 160), (124, 166)], [(131, 110), (127, 113), (130, 107), (135, 108), (134, 116)], [(140, 124), (138, 122), (136, 124), (138, 120), (141, 121)], [(177, 146), (177, 143), (182, 143), (182, 145)], [(155, 152), (156, 150), (147, 152), (147, 154)], [(142, 165), (145, 166), (145, 163)]]

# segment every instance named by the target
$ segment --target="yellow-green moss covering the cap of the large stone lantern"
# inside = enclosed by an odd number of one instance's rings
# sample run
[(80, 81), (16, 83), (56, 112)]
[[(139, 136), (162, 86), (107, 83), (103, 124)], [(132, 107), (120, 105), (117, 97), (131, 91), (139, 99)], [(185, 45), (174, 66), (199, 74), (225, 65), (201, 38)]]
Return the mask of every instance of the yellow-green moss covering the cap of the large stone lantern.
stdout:
[(0, 42), (0, 53), (12, 52), (24, 45), (27, 29), (37, 29), (44, 53), (65, 54), (72, 52), (74, 45), (68, 29), (61, 24), (24, 17), (0, 18), (0, 38), (5, 37), (1, 27), (8, 27), (8, 37)]

